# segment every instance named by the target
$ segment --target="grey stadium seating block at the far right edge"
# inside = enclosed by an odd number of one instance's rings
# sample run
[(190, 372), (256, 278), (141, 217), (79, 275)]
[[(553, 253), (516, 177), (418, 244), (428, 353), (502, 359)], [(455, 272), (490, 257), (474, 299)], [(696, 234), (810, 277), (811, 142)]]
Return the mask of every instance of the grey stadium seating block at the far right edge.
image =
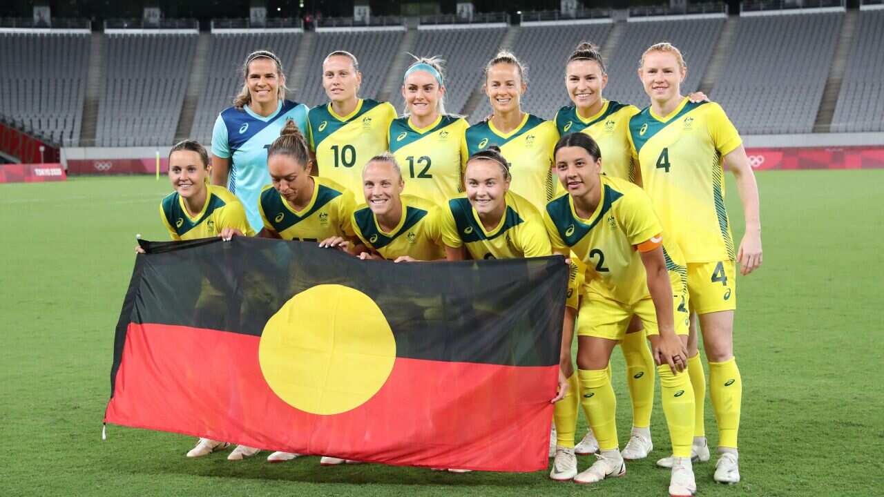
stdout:
[(884, 11), (860, 11), (832, 131), (884, 131)]

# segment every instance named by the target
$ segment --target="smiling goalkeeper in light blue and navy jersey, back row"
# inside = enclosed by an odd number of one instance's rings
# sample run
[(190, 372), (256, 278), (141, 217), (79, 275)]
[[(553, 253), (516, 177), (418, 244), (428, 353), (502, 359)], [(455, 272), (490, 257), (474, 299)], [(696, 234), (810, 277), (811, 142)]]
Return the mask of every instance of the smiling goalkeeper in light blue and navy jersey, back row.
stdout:
[(286, 100), (286, 75), (272, 52), (257, 50), (242, 65), (240, 94), (218, 115), (212, 133), (212, 184), (227, 187), (246, 207), (249, 224), (260, 231), (258, 195), (270, 183), (267, 145), (288, 119), (307, 128), (307, 105)]

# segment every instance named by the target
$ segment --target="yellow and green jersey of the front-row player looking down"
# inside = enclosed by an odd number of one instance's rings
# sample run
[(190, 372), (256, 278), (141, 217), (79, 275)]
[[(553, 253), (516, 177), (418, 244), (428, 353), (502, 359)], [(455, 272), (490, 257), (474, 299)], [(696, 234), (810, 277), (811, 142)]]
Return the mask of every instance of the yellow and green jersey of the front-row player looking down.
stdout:
[(313, 199), (303, 210), (294, 210), (274, 187), (261, 191), (258, 210), (264, 227), (279, 233), (284, 240), (323, 241), (331, 236), (354, 236), (350, 216), (353, 194), (338, 183), (324, 178), (313, 179)]

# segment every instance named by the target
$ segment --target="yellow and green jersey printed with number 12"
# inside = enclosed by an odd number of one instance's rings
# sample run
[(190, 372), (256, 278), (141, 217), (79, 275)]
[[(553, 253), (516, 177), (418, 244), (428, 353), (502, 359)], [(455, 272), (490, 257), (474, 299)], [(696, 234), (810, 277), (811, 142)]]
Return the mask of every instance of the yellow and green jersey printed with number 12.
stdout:
[(453, 116), (439, 116), (423, 129), (412, 126), (407, 117), (390, 123), (390, 151), (402, 168), (408, 194), (443, 205), (463, 191), (467, 127), (466, 119)]

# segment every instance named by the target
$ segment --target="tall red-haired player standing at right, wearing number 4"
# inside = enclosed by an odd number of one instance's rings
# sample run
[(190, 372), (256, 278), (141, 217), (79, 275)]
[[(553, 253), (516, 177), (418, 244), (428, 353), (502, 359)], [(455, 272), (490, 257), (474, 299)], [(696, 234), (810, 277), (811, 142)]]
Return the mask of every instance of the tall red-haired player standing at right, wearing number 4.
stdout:
[[(740, 480), (737, 431), (743, 383), (734, 359), (735, 263), (743, 275), (761, 264), (758, 185), (740, 135), (717, 103), (691, 103), (681, 94), (687, 67), (669, 43), (644, 51), (638, 76), (651, 105), (629, 120), (629, 139), (641, 166), (640, 180), (651, 196), (664, 231), (684, 251), (688, 264), (691, 311), (699, 316), (710, 394), (719, 427), (715, 481)], [(734, 173), (743, 202), (746, 231), (735, 250), (724, 203), (725, 165)], [(697, 355), (697, 330), (691, 318), (689, 370), (697, 395), (693, 455), (709, 459), (702, 405), (703, 365)], [(659, 464), (667, 466), (667, 458)]]

